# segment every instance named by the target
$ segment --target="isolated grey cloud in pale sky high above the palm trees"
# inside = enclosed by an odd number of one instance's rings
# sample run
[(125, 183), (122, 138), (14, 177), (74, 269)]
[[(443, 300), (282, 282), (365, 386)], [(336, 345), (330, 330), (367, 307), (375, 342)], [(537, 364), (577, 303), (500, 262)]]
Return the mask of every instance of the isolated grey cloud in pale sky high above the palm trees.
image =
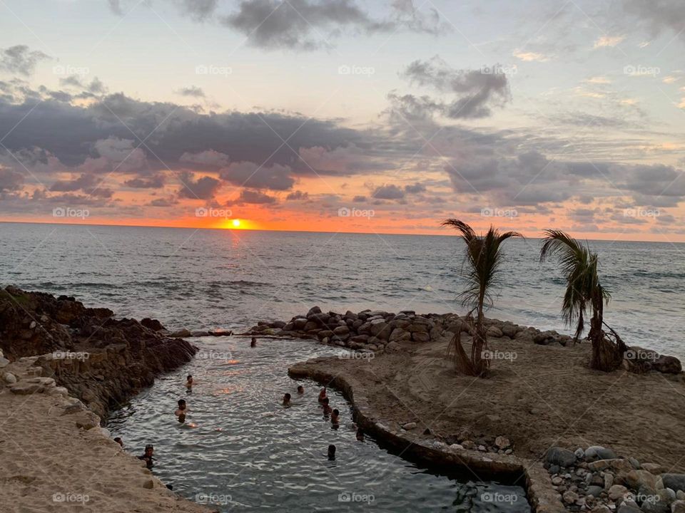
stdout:
[(412, 98), (412, 103), (417, 103), (415, 108), (439, 110), (452, 119), (484, 118), (492, 113), (492, 107), (501, 107), (509, 100), (507, 76), (498, 70), (499, 66), (482, 70), (453, 69), (435, 56), (429, 61), (413, 61), (402, 76), (418, 86), (457, 95), (447, 103), (431, 101), (425, 96), (420, 100)]

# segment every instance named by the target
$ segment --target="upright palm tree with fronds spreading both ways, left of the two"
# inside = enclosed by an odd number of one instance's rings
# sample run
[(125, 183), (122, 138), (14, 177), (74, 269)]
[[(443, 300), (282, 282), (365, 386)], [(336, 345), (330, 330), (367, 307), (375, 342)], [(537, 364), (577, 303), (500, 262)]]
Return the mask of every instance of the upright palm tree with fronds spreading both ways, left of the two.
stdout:
[[(454, 350), (457, 371), (482, 377), (487, 374), (489, 368), (489, 358), (484, 354), (484, 351), (487, 351), (487, 337), (483, 311), (487, 306), (492, 305), (490, 289), (497, 281), (499, 267), (502, 264), (502, 242), (510, 237), (523, 236), (518, 232), (500, 233), (492, 226), (486, 234), (476, 235), (472, 227), (459, 219), (445, 219), (442, 226), (456, 229), (466, 244), (467, 289), (460, 294), (460, 298), (462, 304), (471, 306), (467, 321), (462, 324), (459, 333), (452, 338), (450, 351)], [(472, 337), (471, 358), (467, 356), (462, 346), (462, 331), (469, 333)]]

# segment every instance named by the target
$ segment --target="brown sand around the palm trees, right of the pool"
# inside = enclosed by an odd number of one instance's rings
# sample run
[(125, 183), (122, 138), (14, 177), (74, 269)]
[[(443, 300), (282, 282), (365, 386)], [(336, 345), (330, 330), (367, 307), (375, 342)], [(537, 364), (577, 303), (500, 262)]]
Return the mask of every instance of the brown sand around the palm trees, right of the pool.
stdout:
[[(470, 345), (465, 344), (467, 353)], [(470, 440), (504, 435), (514, 455), (541, 459), (560, 445), (603, 445), (641, 462), (685, 471), (685, 378), (588, 368), (589, 345), (537, 346), (493, 339), (501, 358), (489, 378), (457, 375), (447, 340), (405, 343), (368, 360), (316, 363), (350, 378), (386, 425), (417, 423), (426, 438)], [(451, 443), (451, 442), (450, 442)]]

